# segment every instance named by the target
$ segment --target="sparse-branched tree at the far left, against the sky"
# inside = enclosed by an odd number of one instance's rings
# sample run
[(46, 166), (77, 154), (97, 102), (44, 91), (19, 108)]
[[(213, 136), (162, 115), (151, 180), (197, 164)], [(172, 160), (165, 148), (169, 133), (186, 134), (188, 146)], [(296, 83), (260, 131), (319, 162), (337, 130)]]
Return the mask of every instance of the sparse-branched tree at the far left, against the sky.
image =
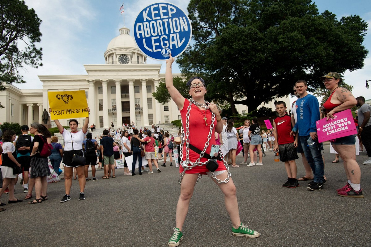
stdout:
[(24, 83), (19, 69), (25, 64), (42, 66), (42, 48), (37, 48), (41, 20), (24, 1), (0, 0), (0, 90), (2, 83)]

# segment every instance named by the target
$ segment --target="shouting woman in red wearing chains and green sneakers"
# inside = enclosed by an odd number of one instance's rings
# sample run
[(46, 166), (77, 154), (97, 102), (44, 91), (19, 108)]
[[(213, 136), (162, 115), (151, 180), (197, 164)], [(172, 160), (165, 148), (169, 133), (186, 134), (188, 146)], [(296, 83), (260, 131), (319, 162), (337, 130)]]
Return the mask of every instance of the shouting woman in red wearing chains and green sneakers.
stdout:
[[(166, 88), (170, 93), (171, 99), (177, 104), (181, 118), (183, 131), (183, 142), (181, 143), (181, 166), (180, 166), (180, 197), (177, 204), (176, 227), (174, 234), (170, 238), (168, 245), (170, 247), (178, 246), (183, 238), (181, 232), (185, 217), (188, 213), (188, 206), (191, 200), (194, 186), (199, 175), (207, 174), (219, 186), (224, 194), (226, 209), (232, 221), (232, 234), (235, 236), (259, 237), (257, 231), (249, 229), (241, 223), (238, 203), (236, 197), (236, 186), (230, 177), (227, 164), (220, 154), (217, 159), (218, 167), (211, 172), (206, 167), (210, 162), (211, 146), (216, 145), (214, 138), (215, 131), (221, 133), (223, 123), (220, 121), (221, 116), (216, 104), (208, 103), (204, 100), (206, 94), (205, 82), (200, 77), (193, 77), (187, 83), (191, 99), (185, 99), (173, 85), (173, 74), (171, 66), (174, 58), (166, 61), (165, 81)], [(191, 117), (190, 117), (191, 116)], [(210, 159), (210, 160), (209, 160)], [(215, 163), (210, 162), (211, 164)], [(210, 168), (210, 167), (209, 167)], [(206, 210), (206, 208), (203, 208)]]

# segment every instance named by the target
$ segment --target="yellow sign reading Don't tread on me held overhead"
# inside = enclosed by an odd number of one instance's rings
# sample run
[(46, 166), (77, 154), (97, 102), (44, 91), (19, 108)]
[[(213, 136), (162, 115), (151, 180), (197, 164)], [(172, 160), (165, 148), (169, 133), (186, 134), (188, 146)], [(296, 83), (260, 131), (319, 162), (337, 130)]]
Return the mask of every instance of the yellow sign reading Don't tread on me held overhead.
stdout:
[(52, 109), (50, 119), (73, 119), (88, 117), (85, 91), (48, 92), (49, 106)]

